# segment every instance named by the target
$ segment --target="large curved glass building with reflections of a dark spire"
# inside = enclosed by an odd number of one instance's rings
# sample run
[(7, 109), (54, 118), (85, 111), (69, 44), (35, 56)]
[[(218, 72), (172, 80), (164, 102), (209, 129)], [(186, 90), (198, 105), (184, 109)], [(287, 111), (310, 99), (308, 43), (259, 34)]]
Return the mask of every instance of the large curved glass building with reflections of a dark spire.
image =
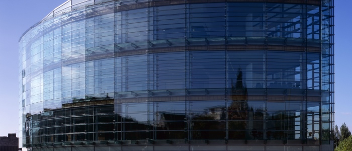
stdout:
[(19, 41), (20, 147), (331, 150), (333, 12), (333, 0), (67, 1)]

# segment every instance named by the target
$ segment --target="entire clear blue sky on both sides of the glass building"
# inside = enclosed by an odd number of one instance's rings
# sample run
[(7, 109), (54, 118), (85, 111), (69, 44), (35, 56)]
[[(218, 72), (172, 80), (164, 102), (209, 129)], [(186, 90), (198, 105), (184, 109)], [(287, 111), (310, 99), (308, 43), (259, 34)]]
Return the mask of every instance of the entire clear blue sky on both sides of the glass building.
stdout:
[[(66, 0), (2, 0), (0, 4), (0, 136), (19, 129), (18, 40), (28, 28), (64, 2)], [(335, 1), (335, 124), (340, 126), (345, 122), (352, 130), (350, 6), (352, 1)]]

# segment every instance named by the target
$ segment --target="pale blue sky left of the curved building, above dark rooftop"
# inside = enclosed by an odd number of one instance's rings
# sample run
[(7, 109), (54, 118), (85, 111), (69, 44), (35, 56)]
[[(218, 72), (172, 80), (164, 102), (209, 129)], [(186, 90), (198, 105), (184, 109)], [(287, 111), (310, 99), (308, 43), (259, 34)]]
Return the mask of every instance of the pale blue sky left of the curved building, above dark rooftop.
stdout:
[(18, 40), (67, 0), (2, 0), (0, 4), (0, 136), (19, 129)]

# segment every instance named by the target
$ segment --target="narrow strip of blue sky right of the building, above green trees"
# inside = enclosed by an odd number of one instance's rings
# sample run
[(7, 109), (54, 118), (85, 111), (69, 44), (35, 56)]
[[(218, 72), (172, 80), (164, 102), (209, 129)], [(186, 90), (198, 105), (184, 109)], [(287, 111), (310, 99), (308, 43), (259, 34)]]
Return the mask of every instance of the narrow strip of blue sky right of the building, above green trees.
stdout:
[(343, 122), (352, 130), (352, 1), (335, 1), (335, 124)]

